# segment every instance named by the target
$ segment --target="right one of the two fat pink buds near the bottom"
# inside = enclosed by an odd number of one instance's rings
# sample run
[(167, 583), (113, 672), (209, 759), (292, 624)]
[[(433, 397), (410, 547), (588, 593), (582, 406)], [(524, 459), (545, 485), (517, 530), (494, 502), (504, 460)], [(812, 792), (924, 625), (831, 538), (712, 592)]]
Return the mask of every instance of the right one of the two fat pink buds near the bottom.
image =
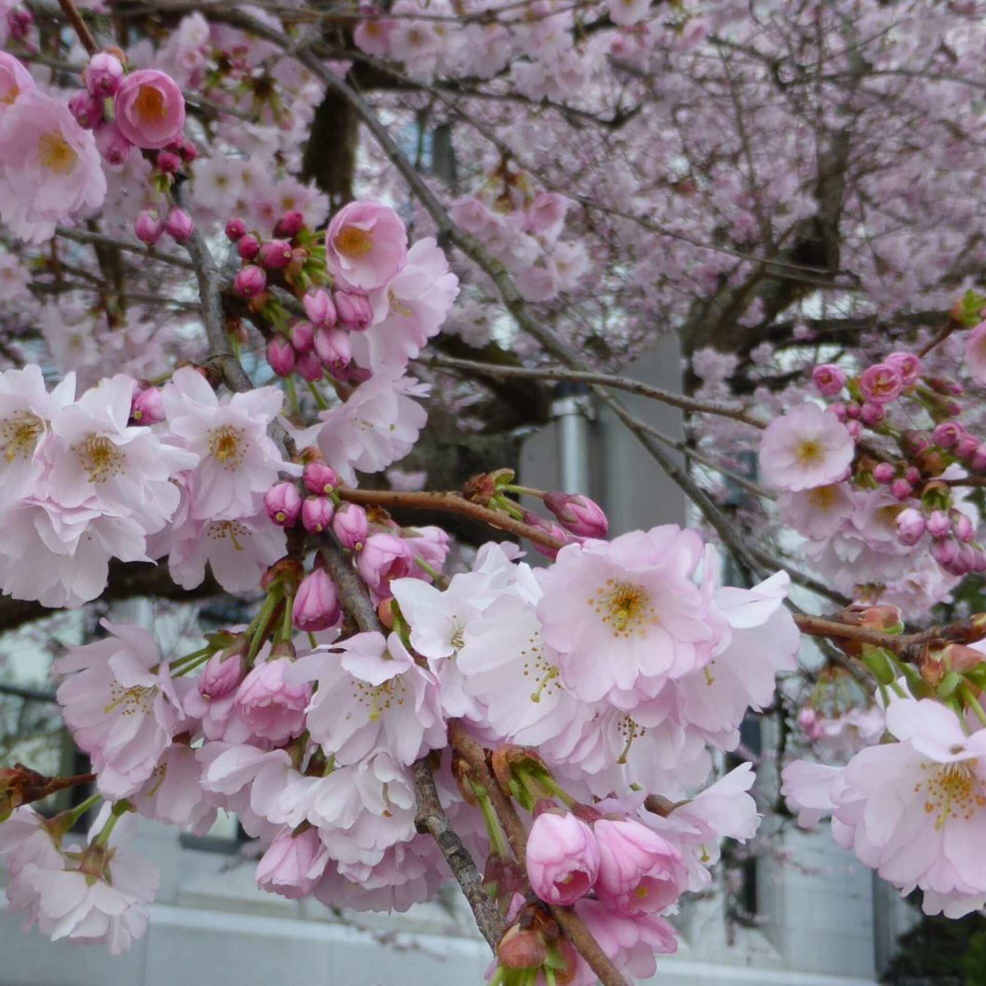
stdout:
[(681, 854), (657, 832), (633, 818), (600, 818), (593, 825), (599, 844), (596, 893), (621, 914), (663, 911), (688, 881)]

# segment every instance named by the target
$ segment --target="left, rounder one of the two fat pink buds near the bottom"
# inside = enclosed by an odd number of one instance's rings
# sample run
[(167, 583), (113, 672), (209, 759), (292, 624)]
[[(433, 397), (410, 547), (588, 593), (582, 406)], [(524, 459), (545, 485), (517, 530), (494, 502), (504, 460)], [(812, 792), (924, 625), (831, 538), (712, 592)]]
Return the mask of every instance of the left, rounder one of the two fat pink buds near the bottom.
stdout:
[(545, 811), (528, 835), (530, 888), (549, 904), (574, 904), (599, 873), (599, 846), (593, 830), (574, 814)]

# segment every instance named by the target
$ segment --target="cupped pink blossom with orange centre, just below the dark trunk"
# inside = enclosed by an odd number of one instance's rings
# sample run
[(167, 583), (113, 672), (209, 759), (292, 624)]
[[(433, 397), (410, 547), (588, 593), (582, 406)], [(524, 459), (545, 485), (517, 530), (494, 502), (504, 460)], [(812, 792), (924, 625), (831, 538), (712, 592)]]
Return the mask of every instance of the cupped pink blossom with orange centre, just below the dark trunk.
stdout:
[(329, 269), (360, 291), (387, 284), (406, 256), (404, 224), (393, 209), (380, 202), (350, 202), (332, 217), (325, 231)]

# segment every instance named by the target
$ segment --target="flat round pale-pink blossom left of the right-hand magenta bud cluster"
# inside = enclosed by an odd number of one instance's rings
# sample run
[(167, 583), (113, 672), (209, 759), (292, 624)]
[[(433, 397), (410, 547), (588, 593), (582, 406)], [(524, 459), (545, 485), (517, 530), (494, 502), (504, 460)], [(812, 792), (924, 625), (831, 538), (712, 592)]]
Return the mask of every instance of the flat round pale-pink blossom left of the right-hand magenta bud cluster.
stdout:
[(817, 404), (805, 403), (764, 429), (760, 470), (772, 486), (798, 492), (841, 479), (854, 452), (845, 425)]

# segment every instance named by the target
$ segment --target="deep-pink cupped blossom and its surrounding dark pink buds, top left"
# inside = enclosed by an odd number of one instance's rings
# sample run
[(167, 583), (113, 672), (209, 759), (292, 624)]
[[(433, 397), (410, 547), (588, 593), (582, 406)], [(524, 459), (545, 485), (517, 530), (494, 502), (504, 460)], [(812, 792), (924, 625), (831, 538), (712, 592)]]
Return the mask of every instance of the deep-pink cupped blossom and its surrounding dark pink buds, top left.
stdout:
[(155, 181), (168, 187), (182, 163), (197, 153), (181, 135), (184, 97), (167, 73), (140, 69), (128, 74), (125, 60), (118, 48), (93, 55), (83, 73), (86, 88), (72, 96), (69, 110), (83, 129), (93, 131), (107, 165), (125, 164), (134, 147), (156, 153)]

